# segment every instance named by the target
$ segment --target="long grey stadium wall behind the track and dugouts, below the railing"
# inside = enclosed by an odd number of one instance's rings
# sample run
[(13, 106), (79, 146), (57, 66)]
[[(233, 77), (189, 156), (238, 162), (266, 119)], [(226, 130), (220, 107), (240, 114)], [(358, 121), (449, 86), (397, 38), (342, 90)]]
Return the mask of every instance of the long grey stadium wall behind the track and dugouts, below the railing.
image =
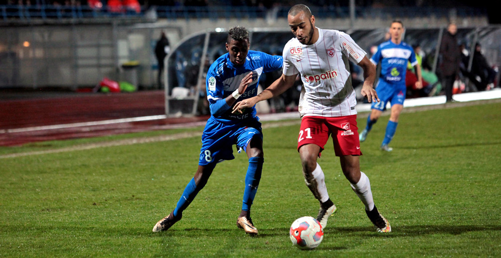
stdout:
[[(444, 28), (454, 16), (402, 19), (407, 28)], [(321, 28), (350, 33), (357, 29), (387, 28), (392, 18), (374, 16), (357, 19), (322, 18)], [(485, 26), (486, 17), (461, 18), (462, 26)], [(157, 63), (154, 44), (163, 30), (172, 47), (196, 32), (227, 29), (231, 26), (261, 28), (273, 32), (287, 30), (285, 18), (256, 19), (157, 19), (131, 23), (126, 20), (93, 22), (0, 24), (0, 88), (62, 87), (76, 90), (94, 87), (103, 78), (130, 80), (141, 88), (155, 88)], [(292, 35), (291, 35), (292, 36)], [(129, 61), (139, 63), (124, 68)]]

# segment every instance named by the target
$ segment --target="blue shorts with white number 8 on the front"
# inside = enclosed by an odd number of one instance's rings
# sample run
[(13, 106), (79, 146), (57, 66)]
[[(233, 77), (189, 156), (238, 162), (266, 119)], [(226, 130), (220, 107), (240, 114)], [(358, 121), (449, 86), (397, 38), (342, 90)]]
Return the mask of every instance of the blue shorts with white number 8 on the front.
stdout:
[(254, 136), (259, 136), (263, 140), (261, 123), (258, 119), (227, 125), (210, 117), (203, 129), (198, 165), (206, 166), (214, 162), (234, 159), (233, 145), (236, 145), (237, 150), (246, 151), (247, 144)]

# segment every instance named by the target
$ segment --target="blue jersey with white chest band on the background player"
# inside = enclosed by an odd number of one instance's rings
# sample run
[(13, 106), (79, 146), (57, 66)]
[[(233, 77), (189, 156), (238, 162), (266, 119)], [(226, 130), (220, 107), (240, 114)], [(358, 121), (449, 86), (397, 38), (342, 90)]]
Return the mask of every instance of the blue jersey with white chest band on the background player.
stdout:
[(404, 42), (397, 45), (391, 40), (381, 43), (370, 60), (375, 65), (381, 62), (379, 80), (404, 87), (407, 62), (410, 62), (412, 66), (417, 64), (416, 54), (411, 46)]

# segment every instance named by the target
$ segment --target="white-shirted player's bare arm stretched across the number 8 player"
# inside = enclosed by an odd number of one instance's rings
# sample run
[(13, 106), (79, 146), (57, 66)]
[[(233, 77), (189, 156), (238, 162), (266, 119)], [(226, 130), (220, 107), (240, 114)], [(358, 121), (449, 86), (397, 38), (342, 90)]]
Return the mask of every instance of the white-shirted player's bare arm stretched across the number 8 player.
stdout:
[(285, 75), (277, 79), (275, 82), (270, 85), (270, 87), (266, 88), (263, 92), (261, 92), (258, 96), (252, 97), (246, 100), (242, 100), (233, 107), (231, 113), (242, 113), (242, 110), (245, 108), (252, 108), (256, 103), (271, 99), (275, 96), (278, 96), (284, 93), (287, 89), (291, 88), (296, 81), (297, 75)]

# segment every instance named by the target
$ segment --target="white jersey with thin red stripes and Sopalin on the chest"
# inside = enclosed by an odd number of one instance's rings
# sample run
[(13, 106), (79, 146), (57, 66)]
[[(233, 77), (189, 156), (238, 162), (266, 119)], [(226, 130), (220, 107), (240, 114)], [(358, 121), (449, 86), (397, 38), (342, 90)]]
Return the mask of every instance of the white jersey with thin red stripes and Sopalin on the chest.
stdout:
[(315, 44), (291, 39), (284, 47), (285, 75), (301, 74), (299, 112), (303, 116), (338, 117), (357, 114), (348, 58), (360, 63), (367, 54), (346, 33), (317, 28)]

